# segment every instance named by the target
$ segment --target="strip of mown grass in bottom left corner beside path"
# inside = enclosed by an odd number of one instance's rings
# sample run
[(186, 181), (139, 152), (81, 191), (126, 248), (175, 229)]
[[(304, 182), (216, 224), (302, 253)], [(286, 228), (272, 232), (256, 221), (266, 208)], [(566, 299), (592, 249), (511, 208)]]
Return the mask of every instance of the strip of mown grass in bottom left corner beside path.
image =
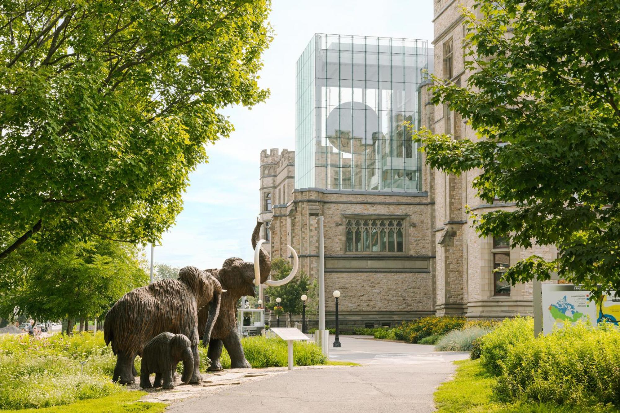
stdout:
[(161, 413), (166, 410), (166, 403), (139, 402), (144, 391), (123, 391), (113, 396), (100, 399), (82, 400), (66, 406), (43, 407), (42, 409), (3, 410), (6, 413)]

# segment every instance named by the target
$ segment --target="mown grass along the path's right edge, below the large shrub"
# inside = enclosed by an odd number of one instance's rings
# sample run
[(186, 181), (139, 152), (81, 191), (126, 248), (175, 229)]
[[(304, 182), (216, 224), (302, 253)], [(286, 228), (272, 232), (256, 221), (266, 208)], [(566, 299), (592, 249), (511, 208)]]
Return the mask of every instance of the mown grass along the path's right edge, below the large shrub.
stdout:
[[(440, 413), (457, 412), (510, 412), (510, 413), (581, 413), (583, 407), (561, 407), (549, 404), (502, 404), (494, 401), (492, 386), (495, 378), (489, 375), (480, 360), (461, 360), (454, 379), (442, 383), (435, 391), (435, 406)], [(618, 412), (614, 407), (588, 407), (588, 412)]]

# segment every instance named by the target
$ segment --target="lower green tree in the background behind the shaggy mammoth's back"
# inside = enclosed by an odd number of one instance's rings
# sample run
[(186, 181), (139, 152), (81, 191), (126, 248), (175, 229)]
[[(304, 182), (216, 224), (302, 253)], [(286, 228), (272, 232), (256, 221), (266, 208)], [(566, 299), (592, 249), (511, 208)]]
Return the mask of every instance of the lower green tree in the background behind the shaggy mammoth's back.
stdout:
[(149, 275), (135, 246), (108, 240), (74, 242), (58, 253), (30, 240), (0, 264), (0, 316), (38, 320), (103, 316)]

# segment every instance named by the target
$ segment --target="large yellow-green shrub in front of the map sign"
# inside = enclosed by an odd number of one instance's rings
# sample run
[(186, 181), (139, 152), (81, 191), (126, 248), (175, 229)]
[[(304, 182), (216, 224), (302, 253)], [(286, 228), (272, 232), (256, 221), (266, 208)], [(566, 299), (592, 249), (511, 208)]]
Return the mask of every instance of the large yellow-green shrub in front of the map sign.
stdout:
[[(483, 358), (494, 342), (485, 337)], [(497, 362), (500, 372), (494, 393), (500, 401), (533, 399), (569, 406), (620, 403), (620, 332), (609, 324), (567, 324), (536, 339), (516, 340), (507, 348)]]

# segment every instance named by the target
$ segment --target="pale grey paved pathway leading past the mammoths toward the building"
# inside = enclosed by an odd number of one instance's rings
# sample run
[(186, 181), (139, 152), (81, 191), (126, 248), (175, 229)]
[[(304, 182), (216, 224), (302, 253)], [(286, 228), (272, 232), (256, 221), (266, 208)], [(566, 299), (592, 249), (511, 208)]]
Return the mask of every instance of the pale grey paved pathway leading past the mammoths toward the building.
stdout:
[(175, 402), (169, 412), (432, 412), (433, 391), (453, 373), (451, 361), (467, 358), (467, 353), (433, 352), (430, 345), (355, 336), (340, 342), (340, 349), (330, 347), (330, 358), (363, 366), (282, 371)]

